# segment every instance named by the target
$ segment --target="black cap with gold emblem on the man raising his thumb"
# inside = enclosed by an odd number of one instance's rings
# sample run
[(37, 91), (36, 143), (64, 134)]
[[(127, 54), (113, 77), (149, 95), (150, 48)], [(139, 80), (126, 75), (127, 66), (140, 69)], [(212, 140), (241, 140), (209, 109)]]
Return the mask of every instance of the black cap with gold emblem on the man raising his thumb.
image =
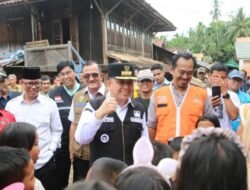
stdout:
[(120, 80), (137, 80), (134, 65), (130, 63), (113, 63), (108, 65), (108, 76)]

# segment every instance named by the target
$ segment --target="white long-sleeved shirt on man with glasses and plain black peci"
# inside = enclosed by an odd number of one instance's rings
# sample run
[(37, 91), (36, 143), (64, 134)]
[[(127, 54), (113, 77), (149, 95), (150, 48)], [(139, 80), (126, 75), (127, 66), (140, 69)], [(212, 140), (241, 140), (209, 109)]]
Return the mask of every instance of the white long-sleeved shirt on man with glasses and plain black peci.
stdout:
[(10, 100), (5, 109), (14, 114), (17, 122), (27, 122), (36, 127), (40, 153), (35, 169), (43, 167), (60, 147), (63, 128), (56, 103), (42, 95), (32, 103), (25, 103), (21, 95)]

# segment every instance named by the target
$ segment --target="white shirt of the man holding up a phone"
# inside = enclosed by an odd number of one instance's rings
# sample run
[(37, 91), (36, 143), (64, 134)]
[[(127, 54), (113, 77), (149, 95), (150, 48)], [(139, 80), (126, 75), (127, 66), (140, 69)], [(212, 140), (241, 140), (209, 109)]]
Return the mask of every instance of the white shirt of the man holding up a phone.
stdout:
[[(211, 96), (212, 90), (210, 88), (207, 88), (207, 93)], [(228, 90), (228, 94), (230, 95), (230, 99), (232, 100), (234, 106), (239, 109), (240, 108), (240, 100), (239, 100), (238, 95), (235, 92), (230, 91), (230, 90)], [(224, 99), (222, 97), (221, 97), (221, 102), (222, 102), (221, 106), (217, 106), (214, 108), (214, 113), (220, 121), (221, 128), (232, 129), (232, 125), (231, 125), (232, 120), (229, 118), (229, 115), (227, 114), (225, 102), (224, 102)]]

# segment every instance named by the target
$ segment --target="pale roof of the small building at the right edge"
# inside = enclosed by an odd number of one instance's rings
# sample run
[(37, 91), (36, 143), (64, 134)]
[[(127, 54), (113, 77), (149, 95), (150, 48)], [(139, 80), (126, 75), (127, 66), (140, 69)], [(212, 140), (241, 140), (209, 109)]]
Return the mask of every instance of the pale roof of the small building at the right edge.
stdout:
[(249, 59), (250, 38), (237, 38), (235, 43), (235, 50), (238, 59)]

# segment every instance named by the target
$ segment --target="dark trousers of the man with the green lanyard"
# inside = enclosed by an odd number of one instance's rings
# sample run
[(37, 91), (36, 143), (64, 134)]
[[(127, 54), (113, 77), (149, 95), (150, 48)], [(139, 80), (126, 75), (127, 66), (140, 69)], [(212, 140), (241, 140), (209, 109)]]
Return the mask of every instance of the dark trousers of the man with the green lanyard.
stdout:
[(58, 149), (55, 153), (56, 158), (56, 178), (59, 189), (68, 186), (71, 161), (69, 152)]

